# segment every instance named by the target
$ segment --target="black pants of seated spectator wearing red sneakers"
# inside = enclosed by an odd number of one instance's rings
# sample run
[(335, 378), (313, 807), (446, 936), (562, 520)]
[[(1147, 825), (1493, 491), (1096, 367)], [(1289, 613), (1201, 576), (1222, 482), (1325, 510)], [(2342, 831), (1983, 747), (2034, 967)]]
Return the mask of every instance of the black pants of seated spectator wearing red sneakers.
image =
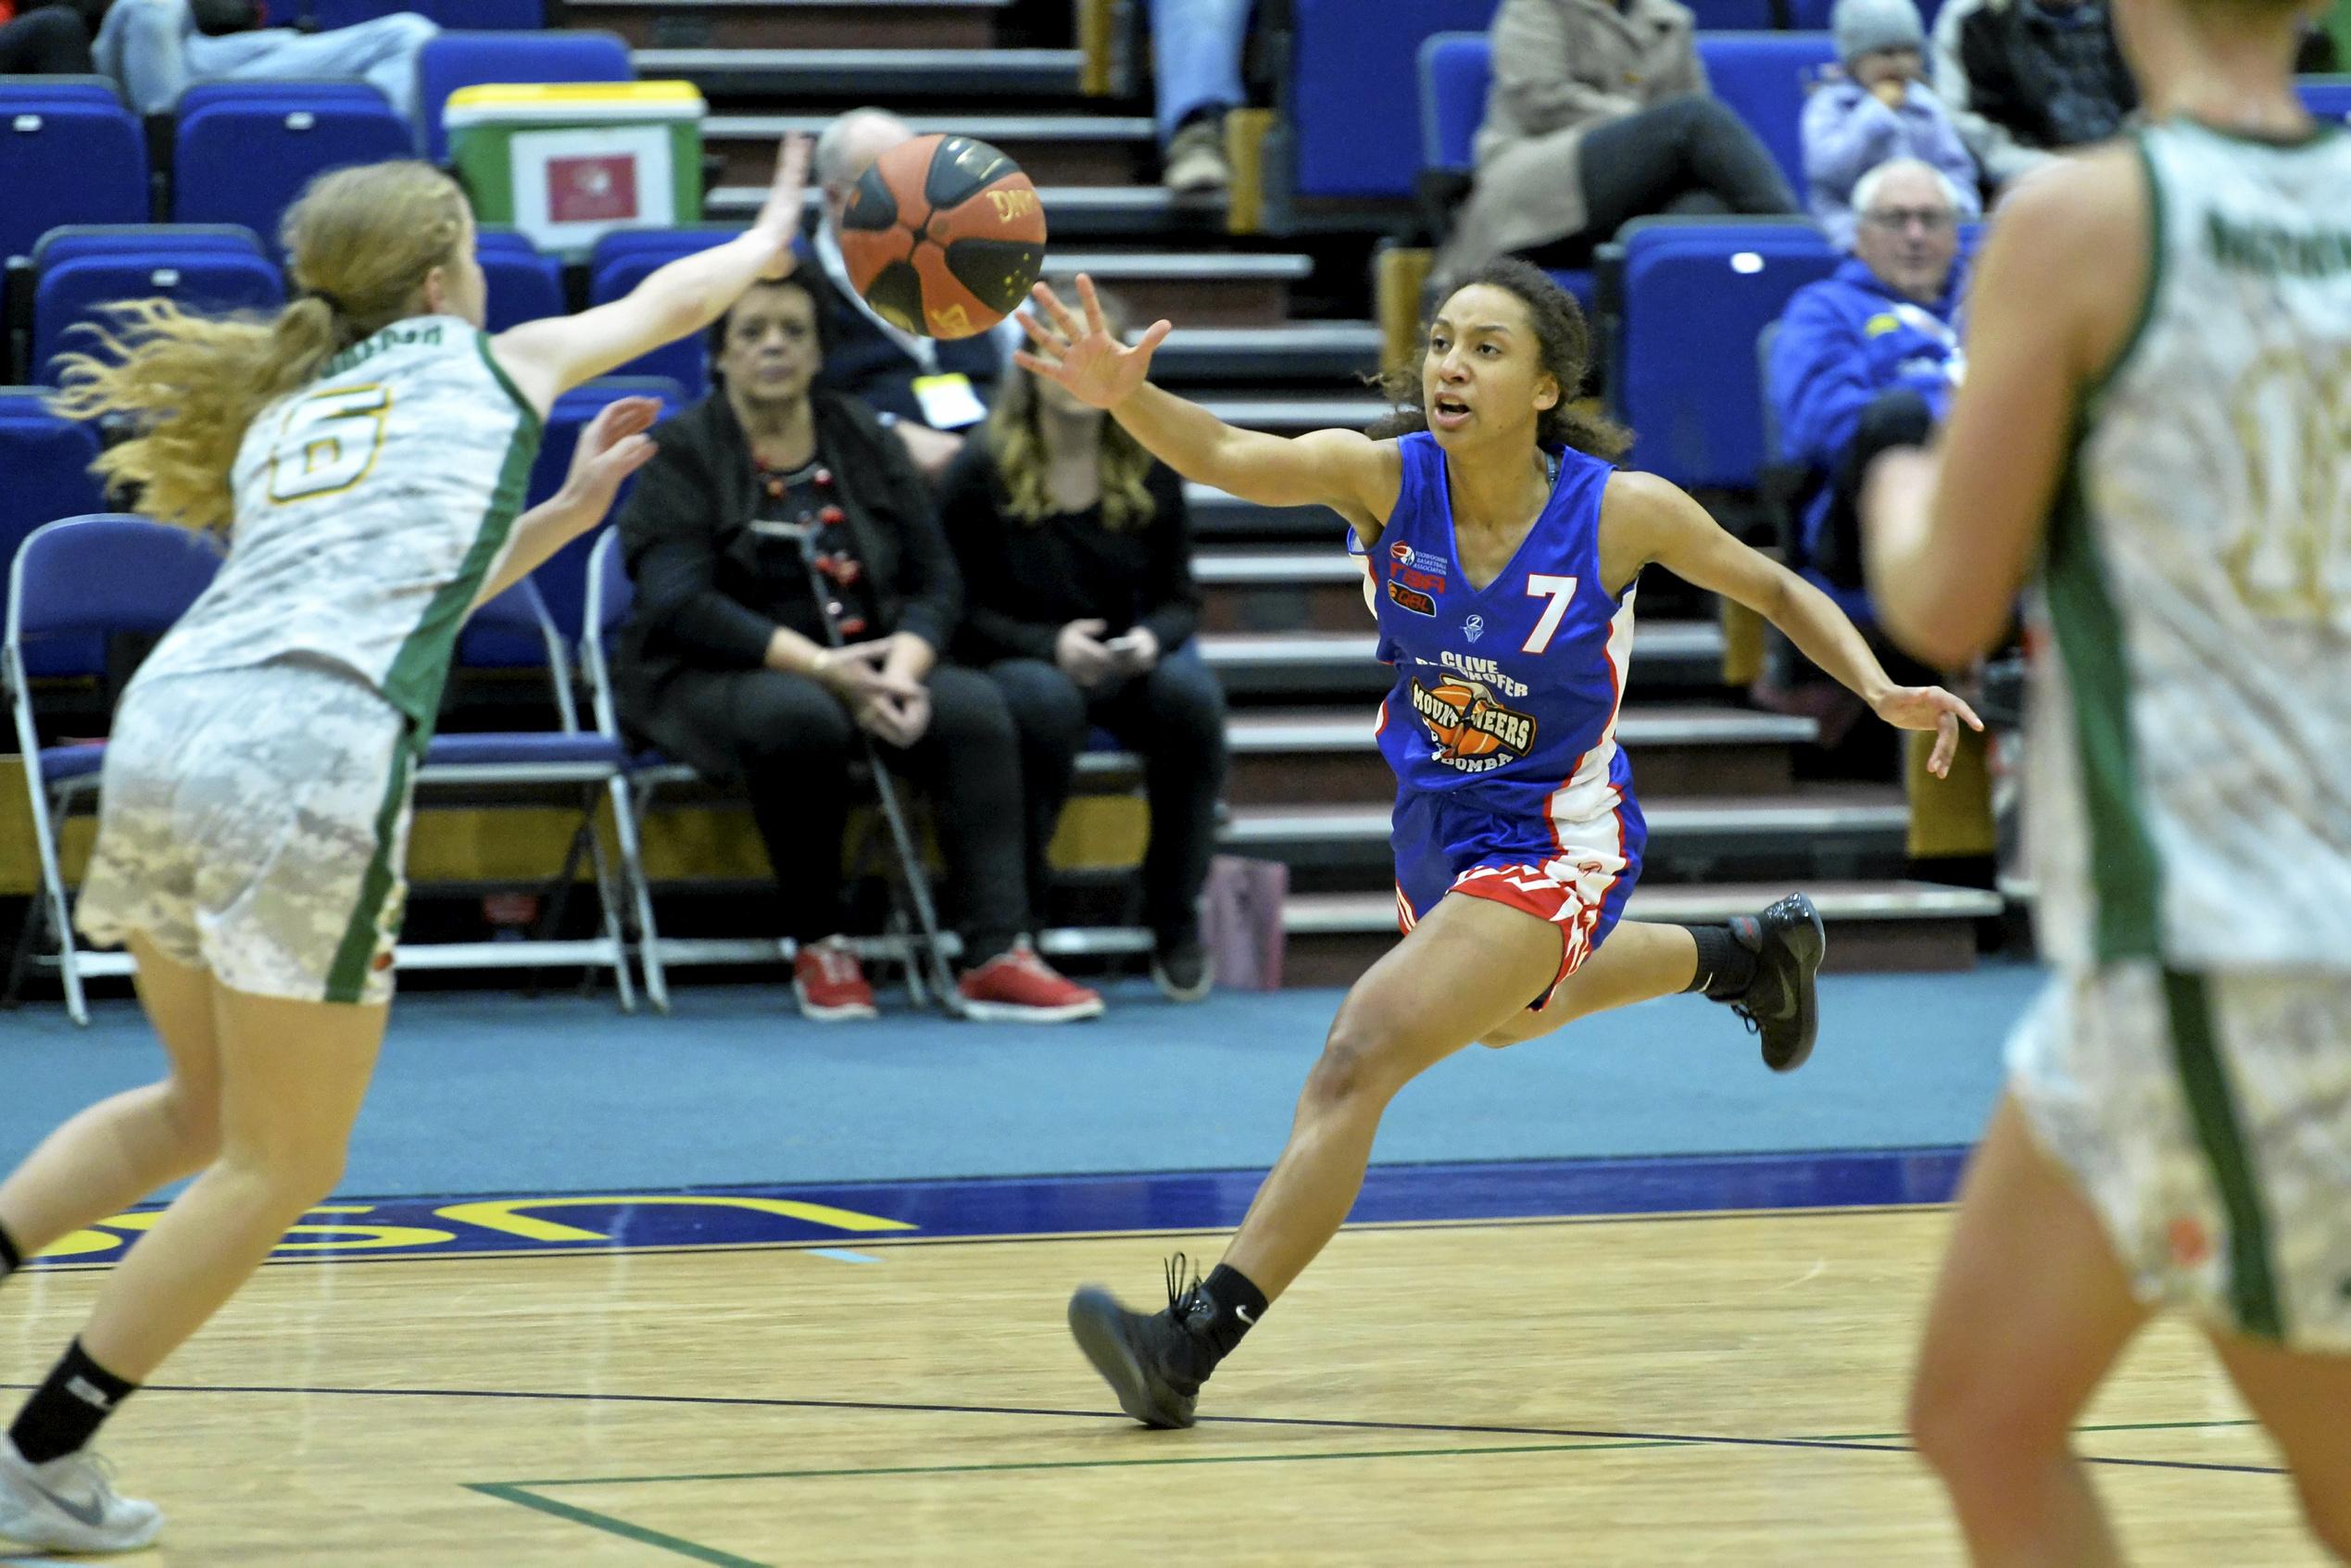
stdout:
[[(931, 729), (898, 750), (875, 743), (891, 773), (924, 788), (952, 889), (964, 964), (983, 964), (1027, 931), (1020, 846), (1020, 745), (1004, 698), (978, 670), (931, 670)], [(863, 755), (839, 698), (804, 675), (686, 670), (670, 679), (668, 722), (722, 745), (750, 785), (752, 818), (783, 893), (783, 936), (809, 943), (842, 929), (842, 837), (849, 762)]]

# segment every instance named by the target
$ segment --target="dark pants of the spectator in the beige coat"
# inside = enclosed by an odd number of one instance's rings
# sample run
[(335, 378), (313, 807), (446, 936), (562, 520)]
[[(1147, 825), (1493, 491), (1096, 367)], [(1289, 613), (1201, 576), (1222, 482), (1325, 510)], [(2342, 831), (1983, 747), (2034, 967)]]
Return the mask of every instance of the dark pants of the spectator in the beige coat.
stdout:
[(1535, 266), (1592, 266), (1592, 252), (1632, 219), (1657, 212), (1796, 212), (1796, 195), (1721, 99), (1693, 92), (1594, 127), (1575, 153), (1582, 230), (1533, 252)]

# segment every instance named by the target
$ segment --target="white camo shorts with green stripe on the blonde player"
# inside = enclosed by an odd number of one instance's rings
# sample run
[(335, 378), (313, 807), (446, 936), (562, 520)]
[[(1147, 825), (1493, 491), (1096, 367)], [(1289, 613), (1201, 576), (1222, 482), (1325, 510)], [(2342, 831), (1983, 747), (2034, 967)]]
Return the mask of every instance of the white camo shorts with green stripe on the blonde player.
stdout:
[(141, 931), (256, 997), (390, 1001), (409, 738), (327, 663), (132, 682), (75, 926), (94, 943)]

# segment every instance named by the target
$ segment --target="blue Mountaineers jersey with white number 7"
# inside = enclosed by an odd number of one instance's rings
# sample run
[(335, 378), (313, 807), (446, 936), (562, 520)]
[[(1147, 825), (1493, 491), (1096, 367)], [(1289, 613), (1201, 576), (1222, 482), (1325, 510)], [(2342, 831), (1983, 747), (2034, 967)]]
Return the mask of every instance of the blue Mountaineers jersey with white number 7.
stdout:
[(1615, 743), (1632, 654), (1634, 588), (1601, 581), (1601, 491), (1613, 465), (1563, 451), (1519, 552), (1483, 590), (1453, 543), (1446, 454), (1396, 442), (1404, 489), (1371, 552), (1380, 658), (1380, 752), (1399, 797), (1444, 795), (1502, 818), (1587, 823), (1632, 802)]

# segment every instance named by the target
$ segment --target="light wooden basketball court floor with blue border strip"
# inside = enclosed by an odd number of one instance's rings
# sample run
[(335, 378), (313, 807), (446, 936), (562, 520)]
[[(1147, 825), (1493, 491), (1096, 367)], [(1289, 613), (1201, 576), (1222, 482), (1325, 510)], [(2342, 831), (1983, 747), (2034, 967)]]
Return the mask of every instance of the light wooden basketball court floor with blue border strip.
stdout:
[[(886, 1187), (858, 1211), (336, 1206), (106, 1448), (169, 1512), (141, 1561), (190, 1568), (1961, 1561), (1900, 1434), (1947, 1208), (1545, 1215), (1512, 1171), (1488, 1190), (1519, 1197), (1472, 1218), (1342, 1232), (1192, 1432), (1119, 1418), (1063, 1302), (1081, 1281), (1157, 1302), (1161, 1253), (1213, 1260), (1246, 1180), (1093, 1178), (1084, 1227), (1190, 1206), (1215, 1232), (1067, 1234), (1067, 1208), (1002, 1182), (966, 1225), (994, 1234), (891, 1220)], [(1357, 1213), (1444, 1175), (1375, 1171)], [(92, 1258), (139, 1227), (82, 1232), (0, 1291), (0, 1382), (47, 1368)], [(433, 1241), (458, 1232), (491, 1251)], [(2137, 1563), (2323, 1561), (2179, 1326), (2139, 1342), (2081, 1450)]]

